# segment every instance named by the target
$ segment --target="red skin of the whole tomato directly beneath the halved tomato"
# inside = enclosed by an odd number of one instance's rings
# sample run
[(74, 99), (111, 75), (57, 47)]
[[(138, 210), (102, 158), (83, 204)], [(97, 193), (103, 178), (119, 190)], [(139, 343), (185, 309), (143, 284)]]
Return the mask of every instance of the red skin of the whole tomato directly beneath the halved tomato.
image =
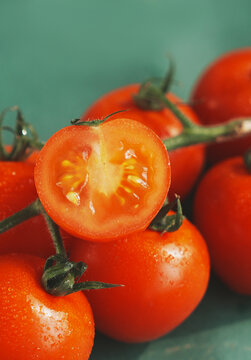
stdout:
[(76, 240), (71, 257), (88, 263), (85, 279), (124, 285), (86, 292), (96, 328), (124, 342), (150, 341), (178, 326), (209, 278), (207, 247), (188, 220), (163, 236), (146, 230), (106, 244)]

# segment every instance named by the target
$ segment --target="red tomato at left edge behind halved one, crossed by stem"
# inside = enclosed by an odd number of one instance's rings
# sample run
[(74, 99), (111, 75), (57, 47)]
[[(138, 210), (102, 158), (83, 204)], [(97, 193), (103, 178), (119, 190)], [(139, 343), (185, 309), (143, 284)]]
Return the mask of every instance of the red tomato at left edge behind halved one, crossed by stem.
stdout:
[[(37, 198), (34, 184), (34, 157), (27, 161), (0, 162), (0, 220), (13, 215)], [(67, 243), (71, 236), (63, 234)], [(42, 215), (0, 235), (0, 254), (24, 252), (48, 257), (55, 253)]]

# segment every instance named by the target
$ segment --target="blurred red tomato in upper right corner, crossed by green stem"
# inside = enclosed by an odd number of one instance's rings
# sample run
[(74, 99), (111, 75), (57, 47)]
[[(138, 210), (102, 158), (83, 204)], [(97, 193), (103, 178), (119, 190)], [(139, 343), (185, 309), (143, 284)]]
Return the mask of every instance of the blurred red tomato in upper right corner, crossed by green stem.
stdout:
[[(251, 47), (231, 51), (216, 59), (197, 81), (191, 102), (205, 125), (251, 116)], [(251, 136), (208, 147), (214, 163), (241, 155), (251, 146)]]

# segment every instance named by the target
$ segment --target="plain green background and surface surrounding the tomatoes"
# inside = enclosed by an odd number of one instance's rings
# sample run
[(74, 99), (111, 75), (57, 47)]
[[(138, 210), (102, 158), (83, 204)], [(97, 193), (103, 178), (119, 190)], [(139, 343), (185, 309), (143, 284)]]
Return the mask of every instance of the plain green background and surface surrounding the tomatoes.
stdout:
[[(0, 108), (19, 105), (47, 139), (106, 91), (163, 75), (168, 53), (187, 100), (206, 64), (251, 45), (250, 13), (250, 0), (0, 0)], [(213, 279), (169, 335), (128, 345), (97, 334), (91, 358), (251, 359), (250, 315), (250, 298)]]

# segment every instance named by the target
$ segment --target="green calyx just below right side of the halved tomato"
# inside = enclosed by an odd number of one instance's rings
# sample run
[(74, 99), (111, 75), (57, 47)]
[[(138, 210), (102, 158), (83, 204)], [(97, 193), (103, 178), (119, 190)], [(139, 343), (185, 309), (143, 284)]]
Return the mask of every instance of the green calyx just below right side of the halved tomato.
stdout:
[[(164, 234), (165, 232), (177, 231), (181, 227), (185, 216), (182, 213), (180, 197), (178, 195), (175, 196), (175, 200), (171, 203), (167, 203), (160, 209), (156, 217), (151, 222), (149, 229)], [(174, 207), (177, 207), (177, 212), (174, 215), (167, 215)]]

